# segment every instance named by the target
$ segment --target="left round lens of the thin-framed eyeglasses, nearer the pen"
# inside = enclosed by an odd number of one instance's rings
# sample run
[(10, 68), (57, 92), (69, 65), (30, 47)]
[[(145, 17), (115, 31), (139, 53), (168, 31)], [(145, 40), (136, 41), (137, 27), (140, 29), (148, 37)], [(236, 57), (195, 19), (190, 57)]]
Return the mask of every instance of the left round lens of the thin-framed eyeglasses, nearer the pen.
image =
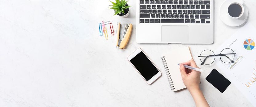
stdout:
[(204, 50), (200, 54), (200, 60), (201, 60), (202, 64), (209, 65), (209, 64), (213, 63), (213, 61), (215, 60), (215, 55), (214, 55), (213, 51), (211, 51), (211, 50)]

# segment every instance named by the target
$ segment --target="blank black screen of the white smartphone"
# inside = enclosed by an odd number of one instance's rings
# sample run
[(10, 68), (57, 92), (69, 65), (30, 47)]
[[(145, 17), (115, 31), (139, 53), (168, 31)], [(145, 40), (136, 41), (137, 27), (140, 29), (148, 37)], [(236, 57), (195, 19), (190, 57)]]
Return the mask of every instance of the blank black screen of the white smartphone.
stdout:
[(142, 51), (130, 61), (134, 65), (134, 67), (140, 72), (140, 74), (146, 79), (146, 81), (150, 80), (154, 75), (159, 72), (154, 64)]

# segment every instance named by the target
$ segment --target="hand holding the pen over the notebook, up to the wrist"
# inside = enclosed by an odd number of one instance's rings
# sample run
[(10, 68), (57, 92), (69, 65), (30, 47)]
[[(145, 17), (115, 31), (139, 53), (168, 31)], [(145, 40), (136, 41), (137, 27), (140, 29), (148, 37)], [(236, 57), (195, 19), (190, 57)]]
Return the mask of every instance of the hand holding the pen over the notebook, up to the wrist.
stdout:
[(189, 91), (200, 90), (199, 83), (200, 83), (201, 72), (187, 69), (184, 67), (184, 65), (189, 65), (189, 66), (198, 68), (195, 61), (191, 59), (187, 62), (181, 63), (180, 72), (181, 72), (183, 83), (185, 84), (185, 86)]

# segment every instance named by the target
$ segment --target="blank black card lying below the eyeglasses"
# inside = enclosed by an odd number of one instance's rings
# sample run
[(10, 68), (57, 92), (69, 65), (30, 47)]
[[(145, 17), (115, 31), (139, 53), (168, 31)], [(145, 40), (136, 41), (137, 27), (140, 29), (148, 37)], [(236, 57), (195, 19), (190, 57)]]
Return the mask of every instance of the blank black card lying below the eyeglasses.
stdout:
[(231, 83), (228, 79), (222, 76), (216, 69), (212, 70), (212, 72), (206, 77), (206, 80), (222, 93), (227, 89), (227, 87)]

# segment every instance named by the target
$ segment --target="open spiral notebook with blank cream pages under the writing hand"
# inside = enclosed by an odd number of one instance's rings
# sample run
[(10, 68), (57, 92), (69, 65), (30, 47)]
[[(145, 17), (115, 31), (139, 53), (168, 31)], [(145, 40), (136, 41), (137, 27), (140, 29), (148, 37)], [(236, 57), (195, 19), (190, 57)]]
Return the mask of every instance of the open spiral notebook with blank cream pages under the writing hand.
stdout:
[(186, 88), (182, 81), (180, 67), (177, 64), (192, 59), (189, 47), (170, 50), (170, 52), (165, 53), (161, 59), (171, 90), (174, 92)]

